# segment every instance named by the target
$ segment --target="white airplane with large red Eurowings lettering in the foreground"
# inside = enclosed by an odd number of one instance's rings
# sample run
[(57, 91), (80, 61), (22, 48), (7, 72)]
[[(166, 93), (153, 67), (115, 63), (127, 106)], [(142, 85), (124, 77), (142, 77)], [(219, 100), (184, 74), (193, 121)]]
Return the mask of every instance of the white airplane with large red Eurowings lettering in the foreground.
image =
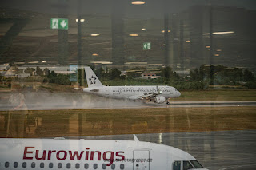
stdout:
[(134, 140), (0, 139), (0, 169), (206, 169), (178, 148)]

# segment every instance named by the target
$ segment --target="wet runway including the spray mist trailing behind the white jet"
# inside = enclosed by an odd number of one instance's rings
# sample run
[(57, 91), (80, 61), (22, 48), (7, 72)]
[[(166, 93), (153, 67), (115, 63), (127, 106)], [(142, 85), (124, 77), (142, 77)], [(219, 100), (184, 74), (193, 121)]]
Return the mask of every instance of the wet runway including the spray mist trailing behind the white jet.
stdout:
[[(86, 93), (25, 93), (24, 95), (29, 110), (256, 106), (256, 101), (170, 101), (170, 105), (166, 105), (166, 103), (117, 100)], [(0, 110), (11, 109), (9, 97), (10, 94), (0, 97)]]

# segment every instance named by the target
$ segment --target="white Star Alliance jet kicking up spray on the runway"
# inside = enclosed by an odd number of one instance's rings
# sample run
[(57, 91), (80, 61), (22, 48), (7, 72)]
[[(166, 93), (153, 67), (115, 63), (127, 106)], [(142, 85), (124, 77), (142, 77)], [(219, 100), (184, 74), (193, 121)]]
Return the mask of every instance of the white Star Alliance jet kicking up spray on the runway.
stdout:
[(99, 81), (98, 77), (90, 67), (85, 67), (85, 72), (88, 88), (81, 90), (102, 97), (130, 100), (146, 99), (158, 104), (166, 101), (166, 104), (169, 105), (169, 98), (179, 97), (181, 95), (177, 89), (167, 85), (105, 86), (102, 85), (102, 82)]

